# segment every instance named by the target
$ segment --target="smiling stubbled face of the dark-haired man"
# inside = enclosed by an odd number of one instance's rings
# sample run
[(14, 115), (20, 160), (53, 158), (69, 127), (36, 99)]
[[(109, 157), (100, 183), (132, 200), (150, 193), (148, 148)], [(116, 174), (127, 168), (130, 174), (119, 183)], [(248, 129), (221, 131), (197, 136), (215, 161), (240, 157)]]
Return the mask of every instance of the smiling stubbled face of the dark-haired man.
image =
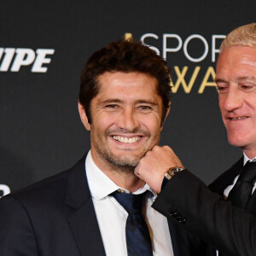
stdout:
[[(144, 73), (103, 73), (90, 103), (91, 153), (99, 168), (137, 166), (160, 141), (162, 99), (156, 79)], [(80, 106), (81, 108), (81, 106)]]

